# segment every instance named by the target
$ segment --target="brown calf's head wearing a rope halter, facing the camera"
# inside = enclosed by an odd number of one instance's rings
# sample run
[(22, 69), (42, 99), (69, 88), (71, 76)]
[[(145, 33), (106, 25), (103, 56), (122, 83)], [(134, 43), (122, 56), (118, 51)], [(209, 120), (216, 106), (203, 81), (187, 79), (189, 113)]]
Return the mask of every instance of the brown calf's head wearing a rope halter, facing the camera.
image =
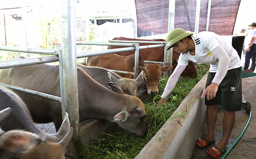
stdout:
[(139, 67), (139, 70), (143, 71), (144, 84), (146, 84), (148, 94), (158, 94), (158, 82), (161, 73), (172, 68), (172, 66), (160, 67), (159, 64), (144, 64), (144, 67)]

